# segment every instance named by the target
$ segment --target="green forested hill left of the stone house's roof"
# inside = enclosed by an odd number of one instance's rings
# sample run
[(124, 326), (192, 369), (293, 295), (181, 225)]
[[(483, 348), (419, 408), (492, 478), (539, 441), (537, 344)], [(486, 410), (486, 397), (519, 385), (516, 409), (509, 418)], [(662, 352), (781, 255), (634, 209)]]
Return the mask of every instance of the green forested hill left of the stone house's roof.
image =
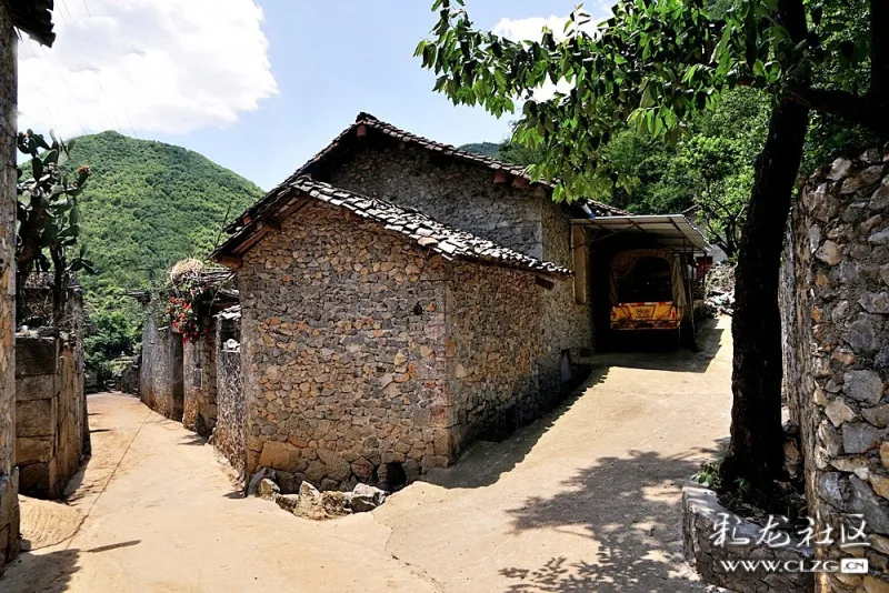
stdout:
[(108, 294), (160, 280), (170, 264), (202, 259), (219, 229), (262, 191), (180, 147), (117, 132), (78, 138), (66, 168), (92, 171), (80, 198), (82, 242), (98, 270), (88, 291)]

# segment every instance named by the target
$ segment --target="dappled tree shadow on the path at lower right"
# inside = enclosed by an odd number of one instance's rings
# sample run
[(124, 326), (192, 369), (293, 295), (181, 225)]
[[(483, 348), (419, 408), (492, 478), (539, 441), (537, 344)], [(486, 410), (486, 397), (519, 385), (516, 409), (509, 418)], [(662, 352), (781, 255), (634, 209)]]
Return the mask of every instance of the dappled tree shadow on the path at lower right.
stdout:
[(676, 570), (682, 565), (678, 492), (700, 460), (713, 455), (699, 449), (679, 458), (639, 451), (603, 458), (565, 481), (556, 496), (528, 499), (510, 511), (516, 532), (556, 529), (592, 539), (599, 551), (589, 562), (553, 555), (539, 566), (505, 567), (500, 574), (515, 581), (507, 591), (693, 591), (697, 583)]

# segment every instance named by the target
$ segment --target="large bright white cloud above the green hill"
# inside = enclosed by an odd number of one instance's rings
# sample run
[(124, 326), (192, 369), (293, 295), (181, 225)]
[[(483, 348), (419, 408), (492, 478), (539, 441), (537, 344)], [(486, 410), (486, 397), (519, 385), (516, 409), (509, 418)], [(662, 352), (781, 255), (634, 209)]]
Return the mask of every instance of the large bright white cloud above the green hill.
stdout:
[(226, 127), (278, 93), (253, 0), (67, 0), (19, 46), (19, 128), (66, 135)]

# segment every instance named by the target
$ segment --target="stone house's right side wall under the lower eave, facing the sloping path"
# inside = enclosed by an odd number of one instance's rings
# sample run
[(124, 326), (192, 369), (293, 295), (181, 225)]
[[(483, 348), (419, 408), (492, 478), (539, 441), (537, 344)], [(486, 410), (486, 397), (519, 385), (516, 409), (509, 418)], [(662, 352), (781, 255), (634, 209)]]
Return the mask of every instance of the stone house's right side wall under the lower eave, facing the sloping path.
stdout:
[(542, 340), (545, 292), (528, 273), (455, 265), (446, 303), (448, 449), (460, 451), (479, 435), (506, 436), (549, 404), (538, 361), (558, 345)]

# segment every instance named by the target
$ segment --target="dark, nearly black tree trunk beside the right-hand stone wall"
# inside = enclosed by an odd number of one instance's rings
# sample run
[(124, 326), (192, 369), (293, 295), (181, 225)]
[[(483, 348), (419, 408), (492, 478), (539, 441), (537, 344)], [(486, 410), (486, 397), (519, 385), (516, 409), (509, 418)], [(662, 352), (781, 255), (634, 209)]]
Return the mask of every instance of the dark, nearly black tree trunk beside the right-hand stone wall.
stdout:
[(808, 122), (809, 110), (797, 103), (783, 101), (772, 111), (735, 272), (735, 401), (731, 444), (721, 476), (726, 489), (732, 489), (738, 479), (746, 480), (753, 500), (763, 505), (768, 505), (773, 481), (783, 475), (778, 281)]

